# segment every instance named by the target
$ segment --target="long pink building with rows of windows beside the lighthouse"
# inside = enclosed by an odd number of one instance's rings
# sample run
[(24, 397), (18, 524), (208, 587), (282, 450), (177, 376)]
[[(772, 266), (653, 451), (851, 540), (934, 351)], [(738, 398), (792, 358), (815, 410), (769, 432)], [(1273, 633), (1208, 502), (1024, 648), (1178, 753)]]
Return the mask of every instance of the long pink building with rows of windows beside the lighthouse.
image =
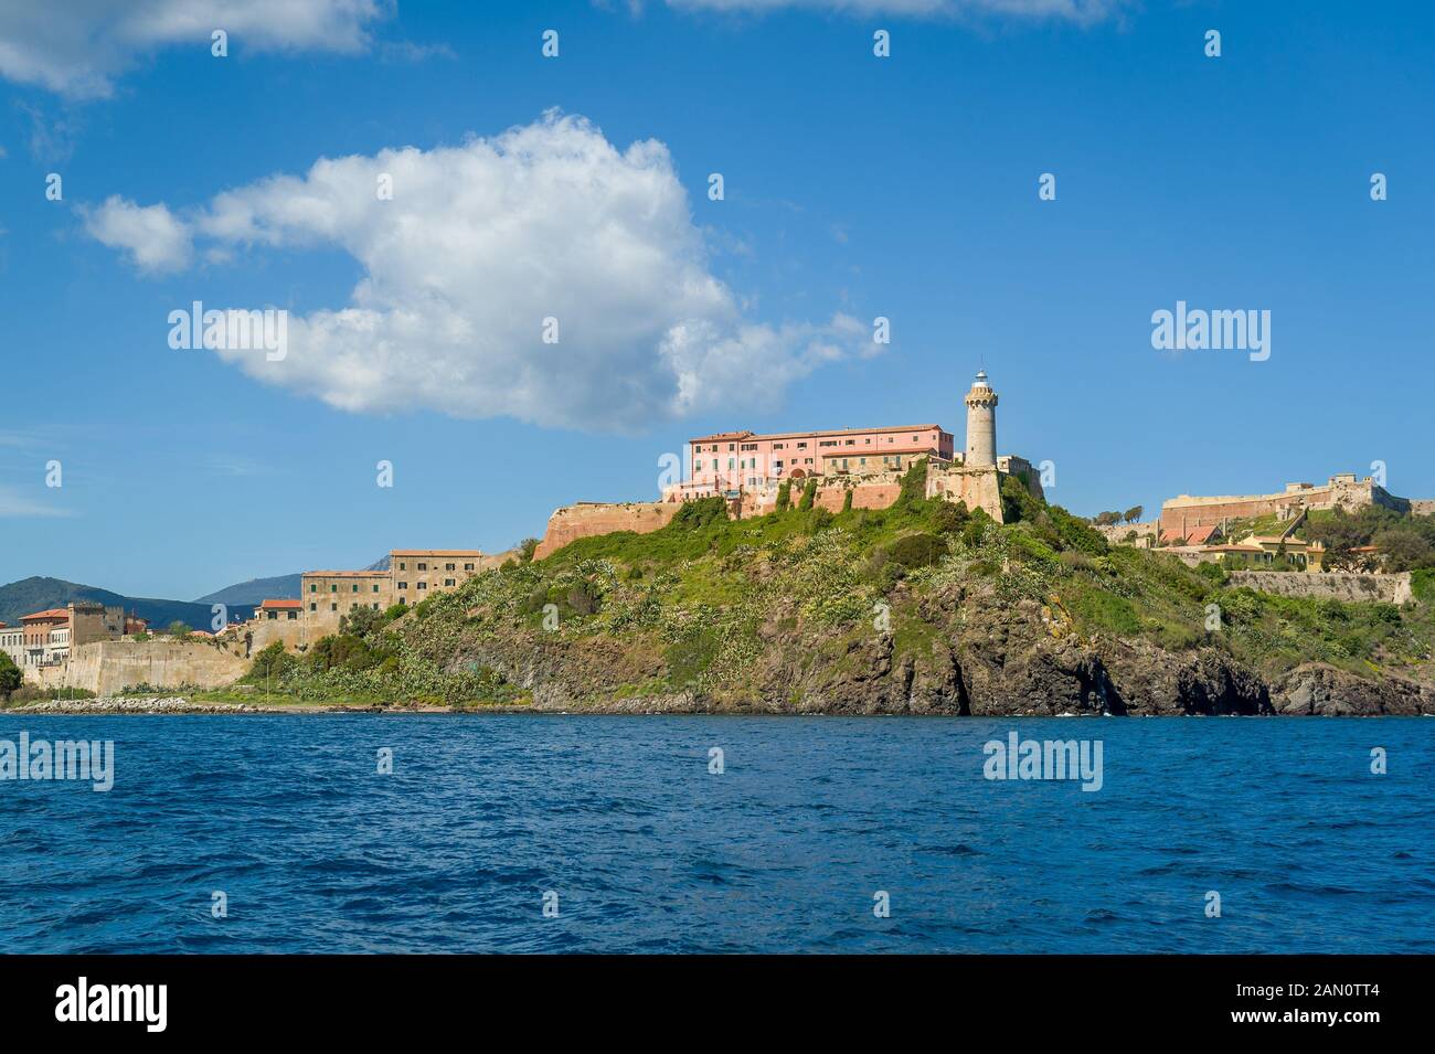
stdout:
[(905, 472), (914, 457), (951, 460), (953, 439), (940, 424), (837, 432), (719, 432), (687, 440), (683, 498), (733, 495), (785, 479)]

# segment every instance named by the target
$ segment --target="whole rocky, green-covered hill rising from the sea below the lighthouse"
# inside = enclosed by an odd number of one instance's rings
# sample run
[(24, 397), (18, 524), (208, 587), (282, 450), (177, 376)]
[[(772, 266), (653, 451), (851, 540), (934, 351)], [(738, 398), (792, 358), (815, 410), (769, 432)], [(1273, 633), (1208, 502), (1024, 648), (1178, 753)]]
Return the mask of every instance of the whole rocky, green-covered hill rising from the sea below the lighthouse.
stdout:
[[(1218, 565), (1108, 546), (1007, 480), (1004, 525), (923, 498), (515, 559), (415, 609), (360, 612), (255, 675), (306, 698), (762, 713), (1435, 713), (1435, 589), (1342, 604), (1231, 588)], [(1213, 618), (1213, 612), (1215, 612)]]

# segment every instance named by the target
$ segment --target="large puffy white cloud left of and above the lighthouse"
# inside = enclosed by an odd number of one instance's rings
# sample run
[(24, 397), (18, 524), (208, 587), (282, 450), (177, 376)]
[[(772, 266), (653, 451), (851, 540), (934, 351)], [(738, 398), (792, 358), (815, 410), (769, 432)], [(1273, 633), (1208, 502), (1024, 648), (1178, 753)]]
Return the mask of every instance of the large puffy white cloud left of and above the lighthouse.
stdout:
[[(376, 194), (385, 175), (392, 201)], [(138, 209), (146, 224), (135, 211), (106, 202), (100, 215), (113, 212), (122, 231), (100, 239), (141, 265), (144, 248), (151, 270), (188, 247), (145, 241), (174, 219), (164, 205)], [(631, 432), (705, 409), (773, 407), (792, 380), (871, 346), (844, 315), (746, 318), (707, 268), (667, 148), (620, 151), (581, 118), (547, 113), (462, 146), (320, 159), (303, 176), (220, 194), (185, 224), (211, 244), (210, 258), (339, 247), (362, 264), (347, 305), (290, 317), (281, 361), (218, 351), (352, 412)], [(557, 344), (542, 340), (550, 317)]]

